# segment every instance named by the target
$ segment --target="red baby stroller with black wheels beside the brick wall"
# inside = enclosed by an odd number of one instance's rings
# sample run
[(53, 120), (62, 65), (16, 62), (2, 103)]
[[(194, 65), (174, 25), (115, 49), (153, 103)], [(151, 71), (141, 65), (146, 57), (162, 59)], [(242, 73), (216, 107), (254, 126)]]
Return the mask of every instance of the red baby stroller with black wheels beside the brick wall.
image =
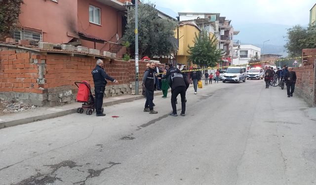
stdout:
[[(95, 111), (94, 107), (94, 97), (91, 93), (91, 86), (87, 81), (75, 82), (78, 89), (77, 94), (77, 102), (81, 102), (82, 106), (77, 109), (78, 113), (83, 113), (84, 109), (86, 109), (85, 113), (91, 115), (93, 111)], [(79, 85), (78, 85), (79, 84)], [(103, 108), (102, 108), (103, 112)]]

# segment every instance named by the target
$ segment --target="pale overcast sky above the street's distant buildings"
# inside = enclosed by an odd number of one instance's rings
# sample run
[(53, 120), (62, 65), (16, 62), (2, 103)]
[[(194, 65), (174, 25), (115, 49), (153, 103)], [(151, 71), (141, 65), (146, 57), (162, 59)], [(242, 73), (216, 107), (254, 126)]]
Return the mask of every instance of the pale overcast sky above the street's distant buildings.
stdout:
[[(146, 1), (146, 0), (145, 0)], [(232, 24), (273, 23), (308, 25), (316, 0), (150, 0), (174, 12), (212, 12)]]

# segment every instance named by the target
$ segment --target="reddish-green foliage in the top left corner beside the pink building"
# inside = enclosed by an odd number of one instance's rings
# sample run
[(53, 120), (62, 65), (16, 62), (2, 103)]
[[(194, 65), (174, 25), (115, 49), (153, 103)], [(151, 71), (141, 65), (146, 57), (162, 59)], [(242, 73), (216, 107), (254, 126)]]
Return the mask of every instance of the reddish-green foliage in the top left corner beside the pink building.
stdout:
[(9, 37), (16, 27), (23, 0), (0, 0), (0, 40)]

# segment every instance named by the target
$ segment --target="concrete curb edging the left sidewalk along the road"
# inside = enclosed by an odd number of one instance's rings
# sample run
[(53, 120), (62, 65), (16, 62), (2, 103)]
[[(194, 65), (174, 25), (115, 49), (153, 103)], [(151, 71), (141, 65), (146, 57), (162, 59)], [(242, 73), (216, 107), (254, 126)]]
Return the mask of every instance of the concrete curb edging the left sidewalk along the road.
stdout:
[[(162, 95), (162, 92), (160, 91), (160, 92), (157, 92), (154, 94), (154, 96), (158, 96), (158, 95)], [(144, 98), (143, 95), (135, 95), (135, 97), (105, 102), (105, 103), (103, 103), (102, 106), (107, 107), (107, 106), (112, 106), (112, 105), (121, 104), (121, 103), (133, 102), (135, 100), (140, 100), (143, 98)], [(34, 121), (41, 121), (41, 120), (45, 120), (45, 119), (64, 116), (64, 115), (68, 115), (68, 114), (72, 114), (72, 113), (76, 113), (76, 112), (77, 112), (77, 108), (74, 108), (74, 109), (68, 109), (68, 110), (59, 111), (59, 112), (48, 113), (45, 115), (37, 115), (37, 116), (25, 117), (25, 118), (11, 120), (11, 121), (4, 121), (4, 122), (0, 122), (0, 129), (6, 128), (6, 127), (11, 127), (11, 126), (16, 126), (16, 125), (22, 125), (22, 124), (26, 124), (26, 123), (31, 123)]]

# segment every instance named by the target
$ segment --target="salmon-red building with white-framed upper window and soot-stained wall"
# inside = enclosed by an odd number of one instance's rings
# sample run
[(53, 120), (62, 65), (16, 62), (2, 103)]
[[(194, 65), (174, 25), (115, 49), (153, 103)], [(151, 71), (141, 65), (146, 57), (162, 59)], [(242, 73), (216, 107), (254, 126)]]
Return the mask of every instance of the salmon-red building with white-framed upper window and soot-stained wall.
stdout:
[(127, 4), (131, 0), (24, 0), (13, 37), (119, 53)]

